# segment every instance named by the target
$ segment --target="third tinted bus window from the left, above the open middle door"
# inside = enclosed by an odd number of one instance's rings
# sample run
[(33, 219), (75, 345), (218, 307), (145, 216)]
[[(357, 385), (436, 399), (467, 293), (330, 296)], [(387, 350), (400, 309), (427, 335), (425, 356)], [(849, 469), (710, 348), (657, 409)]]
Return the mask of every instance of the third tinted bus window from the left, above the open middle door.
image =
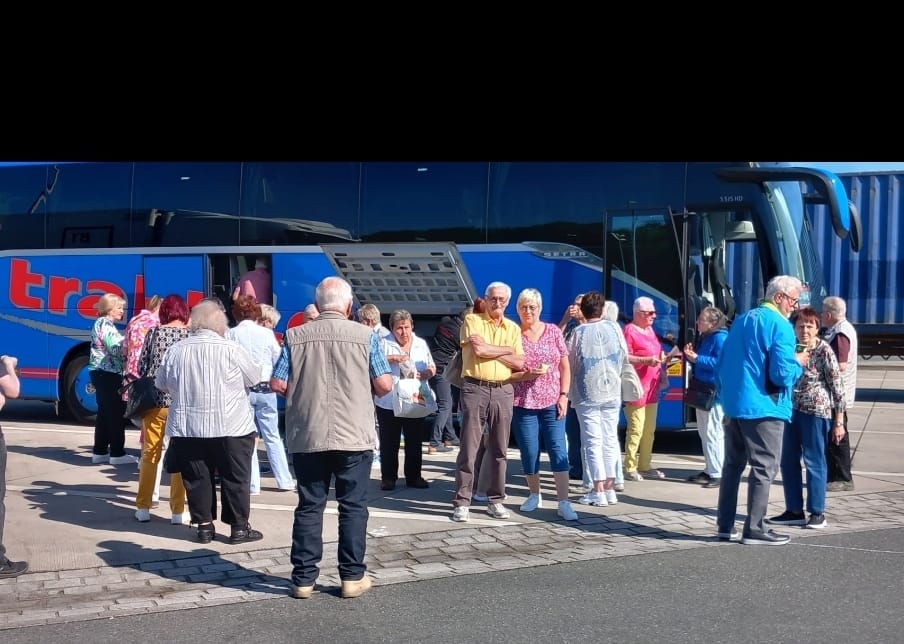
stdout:
[(239, 163), (136, 163), (136, 245), (239, 244), (240, 173)]

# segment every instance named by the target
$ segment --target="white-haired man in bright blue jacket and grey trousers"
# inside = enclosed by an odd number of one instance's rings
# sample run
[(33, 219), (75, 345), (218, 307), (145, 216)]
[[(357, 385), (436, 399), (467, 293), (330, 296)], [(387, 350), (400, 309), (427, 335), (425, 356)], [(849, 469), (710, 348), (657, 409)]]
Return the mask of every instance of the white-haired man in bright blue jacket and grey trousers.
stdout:
[[(735, 319), (716, 367), (716, 385), (725, 410), (725, 463), (719, 488), (718, 536), (737, 538), (734, 528), (738, 487), (747, 477), (747, 520), (741, 543), (780, 546), (790, 537), (765, 523), (769, 488), (778, 473), (782, 432), (791, 420), (791, 390), (803, 373), (797, 340), (788, 321), (798, 308), (801, 282), (773, 277), (766, 299)], [(803, 354), (801, 354), (803, 355)]]

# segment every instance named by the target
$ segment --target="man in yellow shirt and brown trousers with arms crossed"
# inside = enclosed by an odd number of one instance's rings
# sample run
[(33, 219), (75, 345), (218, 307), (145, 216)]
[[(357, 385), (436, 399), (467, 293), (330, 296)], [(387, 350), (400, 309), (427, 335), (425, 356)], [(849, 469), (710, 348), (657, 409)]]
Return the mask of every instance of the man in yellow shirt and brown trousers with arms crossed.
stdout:
[(507, 519), (502, 505), (505, 497), (506, 452), (512, 424), (513, 371), (524, 366), (521, 326), (505, 317), (512, 289), (503, 282), (486, 288), (486, 310), (465, 316), (461, 327), (461, 448), (455, 462), (453, 521), (470, 518), (474, 487), (474, 460), (484, 425), (488, 426), (486, 456), (481, 467), (489, 467), (490, 482), (485, 491), (487, 514)]

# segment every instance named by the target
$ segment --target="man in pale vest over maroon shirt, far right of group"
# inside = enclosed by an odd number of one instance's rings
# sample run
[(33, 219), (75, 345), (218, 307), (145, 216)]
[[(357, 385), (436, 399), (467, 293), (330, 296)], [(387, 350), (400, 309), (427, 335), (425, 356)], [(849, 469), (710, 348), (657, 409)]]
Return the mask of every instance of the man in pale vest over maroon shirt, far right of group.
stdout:
[(829, 471), (826, 489), (829, 492), (846, 492), (854, 489), (851, 476), (851, 442), (847, 431), (847, 410), (853, 407), (857, 393), (857, 332), (847, 320), (847, 304), (834, 295), (822, 301), (822, 337), (829, 343), (838, 358), (841, 380), (844, 383), (844, 425), (835, 425), (826, 441), (826, 463)]

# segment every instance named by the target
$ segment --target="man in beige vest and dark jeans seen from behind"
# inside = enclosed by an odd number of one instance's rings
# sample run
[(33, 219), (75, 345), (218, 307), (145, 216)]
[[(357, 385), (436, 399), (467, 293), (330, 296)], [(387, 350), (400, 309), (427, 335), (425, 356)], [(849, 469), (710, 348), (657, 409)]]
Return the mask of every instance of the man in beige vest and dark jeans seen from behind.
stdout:
[(323, 511), (335, 479), (341, 595), (371, 587), (364, 565), (367, 490), (374, 450), (373, 398), (392, 390), (380, 340), (349, 319), (352, 289), (339, 277), (317, 285), (315, 320), (286, 331), (270, 388), (286, 397), (286, 443), (298, 481), (292, 525), (293, 596), (314, 592), (323, 558)]

